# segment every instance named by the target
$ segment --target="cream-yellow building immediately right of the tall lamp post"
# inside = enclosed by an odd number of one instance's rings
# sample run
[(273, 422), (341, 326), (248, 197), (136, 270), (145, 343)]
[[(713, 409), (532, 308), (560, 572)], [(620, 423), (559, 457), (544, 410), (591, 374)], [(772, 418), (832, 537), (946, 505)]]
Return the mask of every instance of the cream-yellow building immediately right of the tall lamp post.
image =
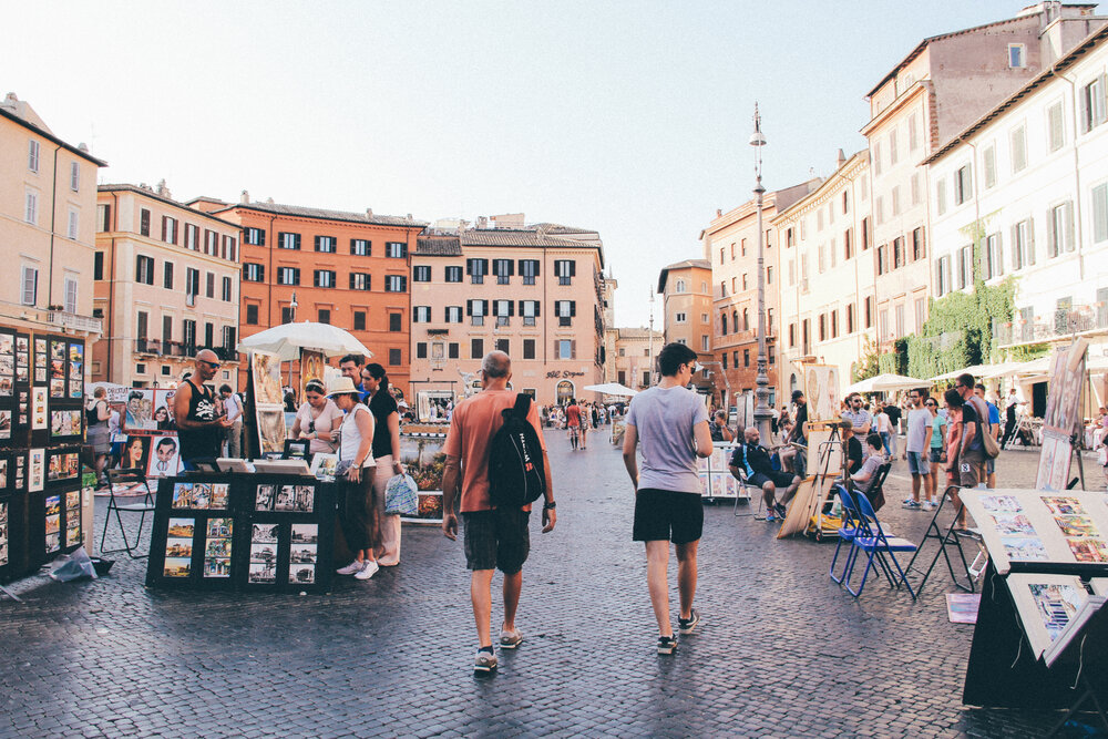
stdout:
[(835, 365), (849, 384), (875, 337), (869, 155), (840, 150), (835, 164), (772, 222), (782, 260), (779, 404), (801, 388), (806, 363)]

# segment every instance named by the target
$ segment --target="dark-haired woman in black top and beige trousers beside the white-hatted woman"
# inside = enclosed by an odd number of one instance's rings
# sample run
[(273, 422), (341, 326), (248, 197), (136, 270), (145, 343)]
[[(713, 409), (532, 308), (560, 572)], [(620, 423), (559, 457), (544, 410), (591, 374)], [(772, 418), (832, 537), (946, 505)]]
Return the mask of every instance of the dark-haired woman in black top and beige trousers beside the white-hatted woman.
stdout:
[(400, 564), (400, 514), (384, 512), (384, 497), (389, 480), (404, 473), (404, 465), (400, 462), (399, 407), (389, 392), (389, 376), (381, 365), (366, 365), (361, 371), (361, 384), (370, 393), (369, 410), (373, 413), (373, 502), (381, 527), (375, 554), (380, 566), (393, 567)]

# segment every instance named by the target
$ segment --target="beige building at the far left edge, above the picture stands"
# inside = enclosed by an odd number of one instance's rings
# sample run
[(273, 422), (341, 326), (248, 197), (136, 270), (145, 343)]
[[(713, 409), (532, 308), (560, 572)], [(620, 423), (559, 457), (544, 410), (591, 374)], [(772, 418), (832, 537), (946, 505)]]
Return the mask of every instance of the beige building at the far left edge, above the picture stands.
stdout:
[(13, 93), (0, 103), (0, 319), (95, 338), (96, 172), (106, 163), (55, 136)]

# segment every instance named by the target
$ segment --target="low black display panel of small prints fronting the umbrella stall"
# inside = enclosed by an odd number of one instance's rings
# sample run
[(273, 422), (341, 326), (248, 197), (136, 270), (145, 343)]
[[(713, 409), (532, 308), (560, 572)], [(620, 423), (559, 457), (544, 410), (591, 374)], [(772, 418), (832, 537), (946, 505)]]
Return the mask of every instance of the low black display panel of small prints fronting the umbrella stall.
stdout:
[(301, 475), (158, 481), (148, 587), (329, 589), (337, 486)]

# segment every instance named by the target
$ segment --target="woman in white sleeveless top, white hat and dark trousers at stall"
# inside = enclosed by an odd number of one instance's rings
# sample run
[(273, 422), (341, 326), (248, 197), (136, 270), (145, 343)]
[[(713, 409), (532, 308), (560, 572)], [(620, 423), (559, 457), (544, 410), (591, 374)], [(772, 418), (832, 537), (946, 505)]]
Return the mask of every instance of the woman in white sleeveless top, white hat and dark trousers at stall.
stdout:
[(345, 505), (340, 523), (355, 560), (339, 568), (340, 575), (369, 579), (378, 569), (373, 550), (380, 541), (380, 523), (373, 503), (372, 454), (373, 414), (361, 402), (361, 393), (348, 377), (338, 378), (327, 397), (346, 412), (342, 419), (339, 461), (350, 464), (346, 472)]

